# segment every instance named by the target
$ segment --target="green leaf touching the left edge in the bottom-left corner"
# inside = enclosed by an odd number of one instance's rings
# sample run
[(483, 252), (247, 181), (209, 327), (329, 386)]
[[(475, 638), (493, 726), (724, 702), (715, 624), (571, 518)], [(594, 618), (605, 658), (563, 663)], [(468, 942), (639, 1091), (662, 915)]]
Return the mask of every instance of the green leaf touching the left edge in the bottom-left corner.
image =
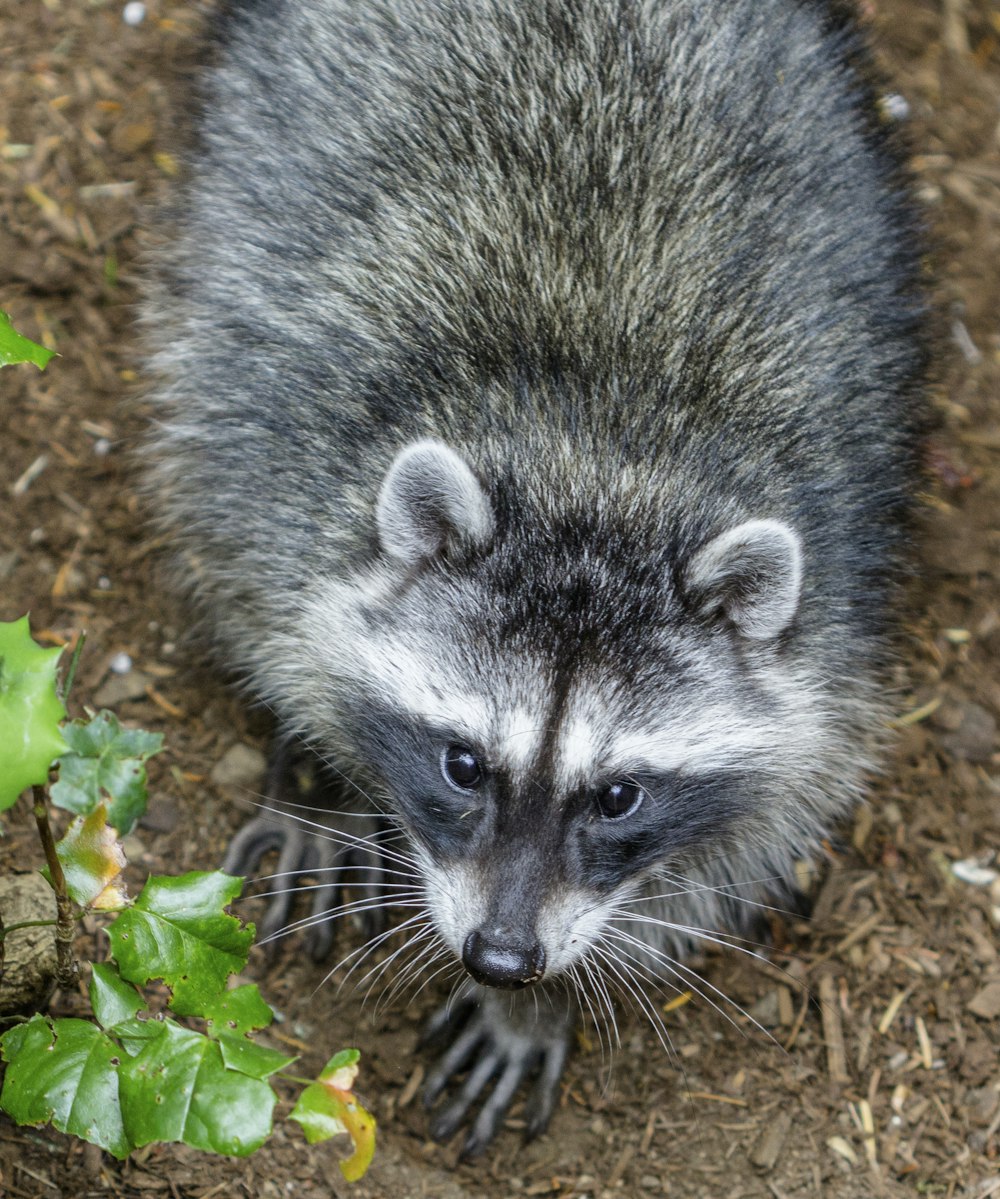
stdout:
[(52, 1122), (125, 1157), (119, 1047), (88, 1020), (34, 1016), (0, 1037), (7, 1072), (0, 1108), (18, 1123)]

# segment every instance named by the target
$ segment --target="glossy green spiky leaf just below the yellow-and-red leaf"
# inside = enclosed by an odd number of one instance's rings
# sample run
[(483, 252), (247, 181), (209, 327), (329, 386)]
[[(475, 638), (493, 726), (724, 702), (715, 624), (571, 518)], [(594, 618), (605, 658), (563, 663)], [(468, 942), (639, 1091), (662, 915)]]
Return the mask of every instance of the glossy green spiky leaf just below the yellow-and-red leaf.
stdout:
[(177, 1016), (201, 1016), (218, 1004), (230, 974), (246, 965), (253, 926), (222, 909), (242, 879), (221, 872), (146, 881), (134, 905), (108, 928), (122, 978), (144, 987), (162, 978)]

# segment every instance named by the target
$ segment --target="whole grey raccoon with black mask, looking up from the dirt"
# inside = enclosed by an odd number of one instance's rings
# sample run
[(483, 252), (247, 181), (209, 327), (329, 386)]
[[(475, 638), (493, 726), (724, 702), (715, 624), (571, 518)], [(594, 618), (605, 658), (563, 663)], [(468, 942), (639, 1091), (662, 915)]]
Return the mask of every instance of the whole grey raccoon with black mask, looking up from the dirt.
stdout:
[(331, 795), (227, 864), (279, 846), (319, 921), (361, 867), (416, 905), (474, 1004), (428, 1080), (468, 1153), (523, 1086), (544, 1128), (578, 1005), (687, 986), (878, 763), (924, 375), (890, 143), (821, 0), (219, 17), (151, 490), (277, 713), (272, 799), (290, 745)]

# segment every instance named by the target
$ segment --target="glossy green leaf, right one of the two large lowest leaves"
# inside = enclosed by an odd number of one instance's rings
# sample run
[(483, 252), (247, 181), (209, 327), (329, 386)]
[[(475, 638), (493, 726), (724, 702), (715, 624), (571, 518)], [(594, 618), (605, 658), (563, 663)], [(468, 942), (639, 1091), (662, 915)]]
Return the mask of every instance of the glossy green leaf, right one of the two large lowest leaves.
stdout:
[(120, 1067), (129, 1140), (180, 1140), (217, 1153), (252, 1153), (271, 1132), (275, 1092), (257, 1078), (227, 1070), (217, 1042), (173, 1020), (162, 1026), (161, 1037)]

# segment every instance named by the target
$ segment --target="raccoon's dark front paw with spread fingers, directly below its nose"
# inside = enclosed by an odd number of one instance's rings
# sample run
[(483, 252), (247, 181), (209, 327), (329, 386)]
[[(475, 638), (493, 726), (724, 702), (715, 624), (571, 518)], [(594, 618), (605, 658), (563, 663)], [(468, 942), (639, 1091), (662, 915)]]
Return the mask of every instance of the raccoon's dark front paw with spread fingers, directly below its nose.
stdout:
[[(493, 1140), (525, 1083), (530, 1085), (525, 1138), (531, 1140), (546, 1131), (573, 1029), (573, 1012), (565, 996), (477, 987), (468, 1008), (471, 1011), (430, 1071), (423, 1091), (430, 1107), (468, 1070), (457, 1096), (430, 1121), (432, 1137), (445, 1140), (465, 1122), (483, 1091), (492, 1087), (462, 1147), (466, 1158), (476, 1157)], [(463, 1014), (453, 1007), (442, 1008), (432, 1020), (428, 1036), (436, 1038), (458, 1025)]]

